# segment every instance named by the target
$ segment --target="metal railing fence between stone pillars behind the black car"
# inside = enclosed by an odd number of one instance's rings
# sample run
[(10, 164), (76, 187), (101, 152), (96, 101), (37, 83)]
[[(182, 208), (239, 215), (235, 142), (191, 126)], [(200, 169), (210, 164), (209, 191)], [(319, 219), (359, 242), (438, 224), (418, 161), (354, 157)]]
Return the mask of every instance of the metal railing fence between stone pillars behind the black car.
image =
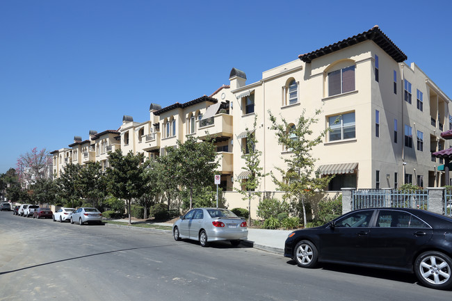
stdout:
[[(428, 190), (403, 192), (400, 190), (389, 189), (360, 189), (353, 191), (352, 199), (352, 210), (372, 207), (417, 208), (428, 210)], [(448, 200), (450, 200), (450, 198)]]

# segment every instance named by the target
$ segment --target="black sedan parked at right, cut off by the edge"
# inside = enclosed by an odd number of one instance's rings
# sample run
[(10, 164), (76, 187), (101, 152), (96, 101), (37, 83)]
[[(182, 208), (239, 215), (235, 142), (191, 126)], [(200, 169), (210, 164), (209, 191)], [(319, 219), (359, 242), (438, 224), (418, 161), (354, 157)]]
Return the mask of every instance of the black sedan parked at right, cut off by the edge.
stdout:
[(303, 268), (318, 262), (414, 272), (430, 288), (452, 288), (452, 218), (419, 209), (351, 211), (289, 234), (284, 256)]

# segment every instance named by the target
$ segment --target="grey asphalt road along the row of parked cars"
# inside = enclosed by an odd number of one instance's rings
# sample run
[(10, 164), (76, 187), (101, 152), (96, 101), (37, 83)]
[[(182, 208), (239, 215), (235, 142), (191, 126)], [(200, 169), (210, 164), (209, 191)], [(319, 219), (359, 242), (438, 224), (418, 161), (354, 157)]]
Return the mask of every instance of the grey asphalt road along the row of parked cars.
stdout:
[(3, 300), (451, 300), (414, 275), (322, 265), (169, 233), (0, 212)]

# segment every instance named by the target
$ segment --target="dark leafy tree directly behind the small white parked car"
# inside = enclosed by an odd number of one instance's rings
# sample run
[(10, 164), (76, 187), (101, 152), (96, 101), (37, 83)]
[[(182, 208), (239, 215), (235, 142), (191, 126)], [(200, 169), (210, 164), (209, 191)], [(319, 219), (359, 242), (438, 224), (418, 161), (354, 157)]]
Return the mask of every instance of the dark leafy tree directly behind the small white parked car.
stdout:
[(72, 207), (79, 203), (81, 198), (81, 189), (79, 186), (81, 165), (69, 163), (56, 179), (56, 188), (58, 196), (67, 200)]

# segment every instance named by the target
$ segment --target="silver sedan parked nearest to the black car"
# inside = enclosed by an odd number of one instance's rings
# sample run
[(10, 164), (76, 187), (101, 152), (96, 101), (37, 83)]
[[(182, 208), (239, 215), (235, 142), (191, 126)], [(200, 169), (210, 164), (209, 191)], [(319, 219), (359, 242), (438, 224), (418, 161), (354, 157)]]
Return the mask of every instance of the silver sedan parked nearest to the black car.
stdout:
[(248, 239), (248, 226), (244, 218), (230, 210), (195, 208), (176, 220), (172, 234), (176, 241), (189, 238), (199, 241), (202, 247), (211, 241), (231, 241), (235, 246)]

